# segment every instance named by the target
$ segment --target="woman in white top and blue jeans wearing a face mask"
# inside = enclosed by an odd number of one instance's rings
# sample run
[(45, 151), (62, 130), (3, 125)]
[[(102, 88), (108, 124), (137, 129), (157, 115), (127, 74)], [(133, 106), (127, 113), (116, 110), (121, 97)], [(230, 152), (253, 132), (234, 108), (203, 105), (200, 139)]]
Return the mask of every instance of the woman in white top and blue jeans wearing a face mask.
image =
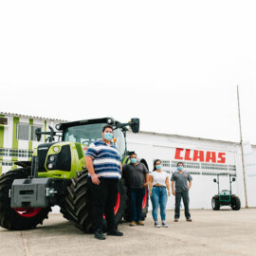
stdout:
[[(160, 216), (162, 221), (162, 227), (168, 228), (166, 224), (166, 204), (170, 192), (170, 182), (168, 174), (162, 171), (161, 160), (156, 159), (154, 161), (154, 170), (150, 174), (149, 187), (150, 187), (150, 198), (152, 202), (152, 216), (155, 221), (155, 228), (160, 228), (160, 224), (157, 220), (157, 210), (160, 206)], [(166, 191), (167, 188), (167, 191)], [(168, 196), (167, 196), (168, 195)]]

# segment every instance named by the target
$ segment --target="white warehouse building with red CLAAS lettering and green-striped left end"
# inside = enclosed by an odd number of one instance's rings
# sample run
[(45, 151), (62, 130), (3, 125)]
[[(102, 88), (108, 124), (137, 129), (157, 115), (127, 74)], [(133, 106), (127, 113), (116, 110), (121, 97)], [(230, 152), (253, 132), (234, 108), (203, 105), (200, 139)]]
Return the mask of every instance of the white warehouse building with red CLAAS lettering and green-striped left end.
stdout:
[[(36, 128), (48, 130), (55, 127), (60, 119), (44, 119), (0, 112), (0, 174), (15, 169), (15, 161), (29, 160), (33, 148), (46, 141), (37, 141)], [(153, 170), (155, 159), (161, 159), (163, 169), (170, 176), (176, 171), (176, 163), (182, 161), (185, 170), (192, 174), (190, 191), (191, 209), (210, 209), (211, 197), (217, 192), (213, 183), (216, 174), (220, 176), (220, 189), (229, 189), (229, 176), (234, 175), (232, 192), (246, 205), (241, 145), (237, 142), (213, 140), (200, 137), (185, 137), (150, 132), (127, 133), (127, 149), (136, 151), (138, 158), (144, 158)], [(247, 184), (247, 204), (256, 207), (256, 146), (245, 145), (245, 169)], [(167, 209), (174, 209), (174, 196), (168, 200)]]

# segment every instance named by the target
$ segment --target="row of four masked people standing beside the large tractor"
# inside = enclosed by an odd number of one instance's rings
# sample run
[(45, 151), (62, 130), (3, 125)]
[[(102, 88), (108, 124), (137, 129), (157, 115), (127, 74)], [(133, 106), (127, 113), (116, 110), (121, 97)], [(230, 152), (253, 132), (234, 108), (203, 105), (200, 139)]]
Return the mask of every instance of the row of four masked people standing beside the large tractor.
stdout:
[[(171, 195), (171, 188), (169, 176), (162, 170), (161, 160), (155, 160), (154, 171), (151, 174), (149, 174), (143, 163), (137, 161), (136, 153), (132, 153), (130, 155), (130, 163), (122, 167), (119, 152), (111, 142), (113, 138), (113, 127), (111, 125), (105, 125), (102, 129), (101, 136), (101, 140), (90, 144), (85, 155), (86, 167), (89, 173), (91, 215), (93, 218), (95, 238), (100, 240), (105, 239), (102, 232), (103, 214), (107, 221), (107, 235), (123, 235), (115, 223), (114, 213), (121, 176), (128, 181), (130, 187), (130, 226), (144, 226), (142, 221), (142, 202), (145, 189), (149, 188), (155, 228), (160, 228), (161, 226), (168, 228), (169, 225), (166, 223), (166, 205), (168, 196)], [(192, 176), (183, 170), (182, 162), (177, 163), (177, 172), (174, 172), (171, 181), (172, 192), (175, 196), (174, 222), (177, 222), (179, 219), (181, 198), (183, 199), (186, 219), (191, 222), (189, 190), (192, 187)], [(157, 218), (159, 207), (161, 224)]]

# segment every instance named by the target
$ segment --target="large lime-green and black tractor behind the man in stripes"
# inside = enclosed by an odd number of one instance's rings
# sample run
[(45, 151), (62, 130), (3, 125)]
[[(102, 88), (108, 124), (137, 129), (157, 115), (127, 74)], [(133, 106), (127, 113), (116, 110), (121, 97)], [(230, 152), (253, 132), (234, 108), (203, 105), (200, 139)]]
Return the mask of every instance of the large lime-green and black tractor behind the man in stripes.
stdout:
[[(0, 176), (0, 226), (11, 230), (34, 229), (43, 224), (51, 207), (59, 206), (64, 218), (86, 232), (92, 231), (84, 153), (91, 142), (101, 138), (102, 127), (106, 124), (114, 127), (114, 143), (122, 164), (128, 163), (126, 126), (137, 133), (139, 119), (128, 123), (112, 118), (86, 119), (57, 124), (57, 131), (51, 127), (50, 132), (38, 129), (38, 140), (42, 135), (49, 136), (46, 143), (34, 149), (31, 161), (15, 162), (21, 168)], [(54, 141), (56, 137), (58, 141)], [(140, 161), (147, 166), (144, 159)], [(122, 178), (115, 207), (117, 224), (129, 214), (128, 199), (127, 182)], [(145, 190), (143, 218), (147, 210), (148, 193)]]

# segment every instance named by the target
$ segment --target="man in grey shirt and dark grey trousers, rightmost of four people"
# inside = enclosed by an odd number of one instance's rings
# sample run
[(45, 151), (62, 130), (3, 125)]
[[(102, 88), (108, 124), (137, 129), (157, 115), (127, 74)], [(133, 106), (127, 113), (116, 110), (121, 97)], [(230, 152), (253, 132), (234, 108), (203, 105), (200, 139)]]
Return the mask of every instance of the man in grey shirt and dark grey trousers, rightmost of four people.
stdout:
[[(181, 197), (183, 199), (184, 208), (185, 208), (185, 216), (187, 221), (192, 222), (189, 203), (189, 191), (192, 187), (192, 175), (183, 171), (183, 163), (177, 163), (177, 172), (172, 175), (172, 191), (175, 196), (175, 214), (174, 214), (174, 222), (177, 222), (179, 219), (180, 212), (180, 200)], [(175, 190), (174, 190), (174, 182), (175, 182)], [(189, 182), (189, 186), (188, 186)]]

